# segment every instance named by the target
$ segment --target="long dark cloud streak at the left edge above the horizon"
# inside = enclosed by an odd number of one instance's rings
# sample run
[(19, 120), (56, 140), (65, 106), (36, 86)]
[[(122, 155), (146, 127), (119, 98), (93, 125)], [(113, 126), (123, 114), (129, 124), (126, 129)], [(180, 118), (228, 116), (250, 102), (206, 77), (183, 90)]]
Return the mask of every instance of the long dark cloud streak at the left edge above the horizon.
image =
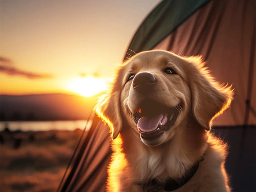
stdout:
[(9, 66), (0, 66), (0, 72), (11, 75), (11, 76), (19, 75), (19, 76), (23, 76), (23, 77), (26, 77), (29, 79), (52, 78), (53, 77), (50, 74), (33, 73), (33, 72), (23, 71), (23, 70), (15, 68), (15, 67), (9, 67)]

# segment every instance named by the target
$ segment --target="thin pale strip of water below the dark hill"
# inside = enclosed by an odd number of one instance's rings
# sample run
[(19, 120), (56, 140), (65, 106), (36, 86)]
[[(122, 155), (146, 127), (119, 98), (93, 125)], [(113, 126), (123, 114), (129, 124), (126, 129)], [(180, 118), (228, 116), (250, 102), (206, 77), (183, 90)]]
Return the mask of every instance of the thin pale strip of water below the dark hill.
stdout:
[[(91, 126), (89, 121), (88, 126)], [(87, 120), (77, 121), (1, 121), (0, 131), (3, 131), (6, 127), (10, 131), (49, 131), (49, 130), (68, 130), (73, 131), (75, 129), (84, 129)], [(88, 128), (87, 128), (88, 131)]]

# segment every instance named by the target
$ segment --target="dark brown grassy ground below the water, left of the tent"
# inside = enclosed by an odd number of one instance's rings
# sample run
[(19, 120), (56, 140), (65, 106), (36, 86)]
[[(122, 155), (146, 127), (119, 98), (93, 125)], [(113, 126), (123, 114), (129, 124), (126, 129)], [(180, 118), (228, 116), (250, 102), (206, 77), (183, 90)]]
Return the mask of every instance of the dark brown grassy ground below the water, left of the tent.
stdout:
[(0, 191), (56, 191), (81, 134), (0, 132)]

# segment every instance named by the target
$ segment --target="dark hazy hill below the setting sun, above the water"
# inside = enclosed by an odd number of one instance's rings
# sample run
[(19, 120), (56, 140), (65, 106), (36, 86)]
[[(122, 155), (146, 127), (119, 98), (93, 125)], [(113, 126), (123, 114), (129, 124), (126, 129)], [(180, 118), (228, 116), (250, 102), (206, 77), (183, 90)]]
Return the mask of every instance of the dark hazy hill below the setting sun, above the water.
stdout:
[(0, 120), (87, 119), (97, 97), (67, 94), (1, 95)]

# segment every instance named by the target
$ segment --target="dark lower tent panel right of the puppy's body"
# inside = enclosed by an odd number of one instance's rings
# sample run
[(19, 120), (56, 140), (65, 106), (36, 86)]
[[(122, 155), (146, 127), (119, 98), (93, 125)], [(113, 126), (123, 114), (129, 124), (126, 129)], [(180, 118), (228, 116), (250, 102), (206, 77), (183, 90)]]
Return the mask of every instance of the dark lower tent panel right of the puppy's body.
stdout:
[(228, 145), (225, 168), (232, 191), (256, 191), (255, 126), (216, 126), (212, 132)]

